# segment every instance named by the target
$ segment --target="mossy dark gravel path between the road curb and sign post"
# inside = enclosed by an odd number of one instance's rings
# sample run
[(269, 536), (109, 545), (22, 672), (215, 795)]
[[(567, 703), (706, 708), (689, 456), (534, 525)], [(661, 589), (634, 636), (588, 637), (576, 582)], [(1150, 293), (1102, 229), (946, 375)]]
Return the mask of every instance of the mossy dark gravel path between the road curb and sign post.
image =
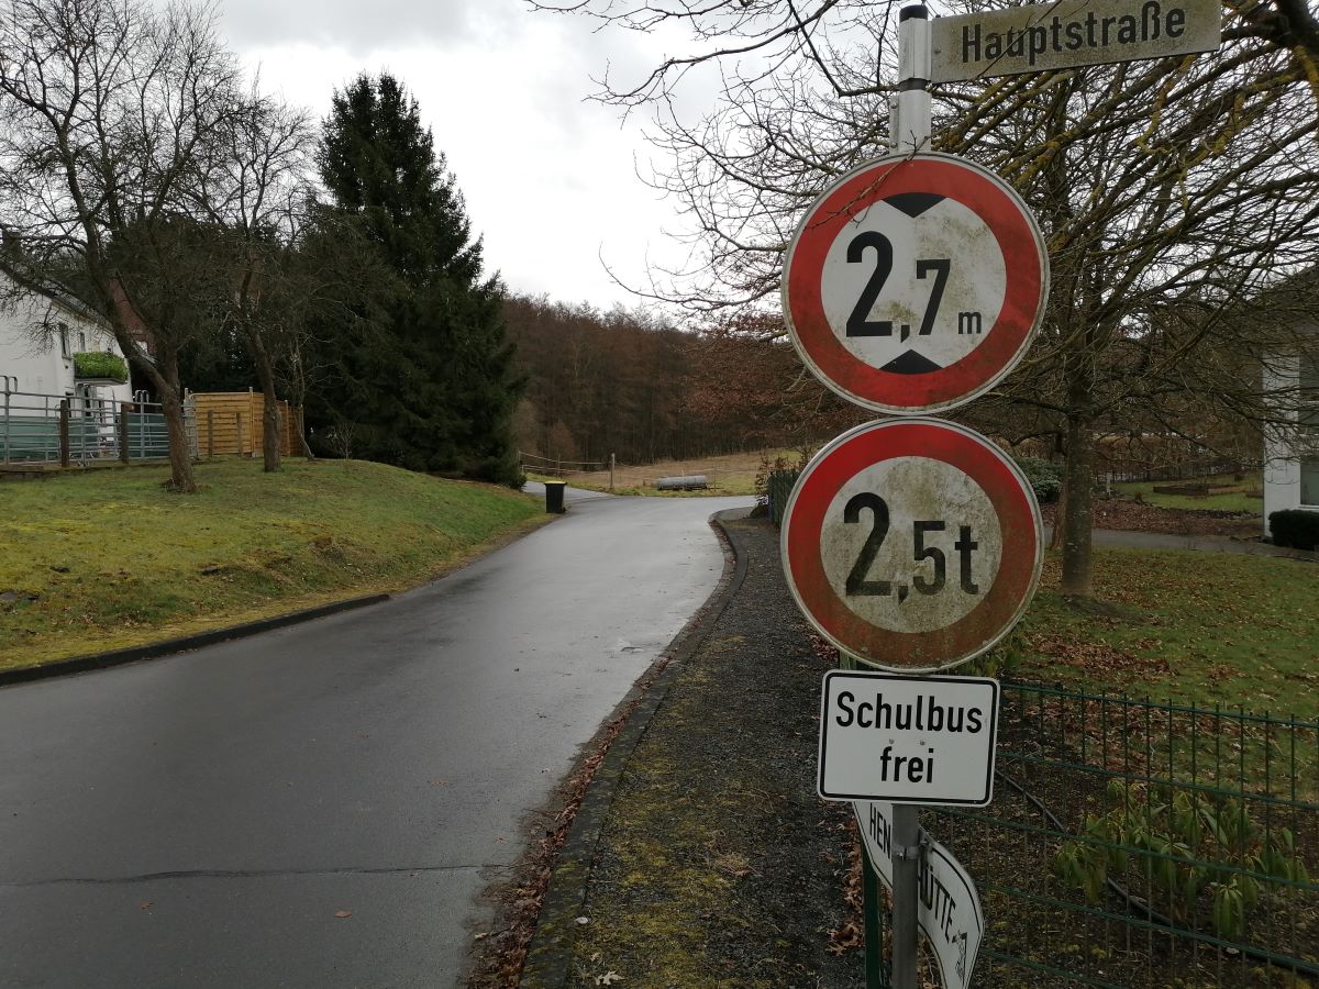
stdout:
[[(860, 952), (831, 951), (851, 916), (852, 843), (843, 806), (815, 795), (830, 662), (811, 651), (783, 585), (777, 533), (753, 520), (725, 530), (745, 576), (670, 667), (616, 779), (580, 916), (557, 945), (566, 959), (550, 967), (566, 961), (567, 985), (864, 982)], [(561, 864), (554, 882), (579, 876)], [(546, 971), (529, 965), (522, 985), (550, 984)]]

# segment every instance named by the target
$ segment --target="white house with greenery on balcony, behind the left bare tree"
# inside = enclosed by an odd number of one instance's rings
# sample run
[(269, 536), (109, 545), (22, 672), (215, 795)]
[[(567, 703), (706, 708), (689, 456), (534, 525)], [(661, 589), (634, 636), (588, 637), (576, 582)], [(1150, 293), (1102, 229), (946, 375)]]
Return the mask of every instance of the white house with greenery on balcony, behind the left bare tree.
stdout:
[(9, 393), (11, 406), (26, 409), (46, 396), (57, 404), (70, 398), (74, 410), (92, 413), (132, 401), (132, 385), (121, 373), (124, 352), (99, 315), (55, 290), (13, 297), (8, 272), (0, 270), (0, 394)]

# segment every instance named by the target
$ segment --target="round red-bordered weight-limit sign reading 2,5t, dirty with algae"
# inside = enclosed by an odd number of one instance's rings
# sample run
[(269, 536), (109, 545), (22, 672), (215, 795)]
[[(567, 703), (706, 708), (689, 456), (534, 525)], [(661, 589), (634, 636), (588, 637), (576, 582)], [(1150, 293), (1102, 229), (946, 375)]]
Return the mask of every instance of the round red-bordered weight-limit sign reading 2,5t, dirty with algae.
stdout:
[(848, 430), (806, 465), (781, 535), (798, 607), (828, 641), (884, 670), (946, 670), (1026, 611), (1043, 558), (1021, 468), (939, 419)]

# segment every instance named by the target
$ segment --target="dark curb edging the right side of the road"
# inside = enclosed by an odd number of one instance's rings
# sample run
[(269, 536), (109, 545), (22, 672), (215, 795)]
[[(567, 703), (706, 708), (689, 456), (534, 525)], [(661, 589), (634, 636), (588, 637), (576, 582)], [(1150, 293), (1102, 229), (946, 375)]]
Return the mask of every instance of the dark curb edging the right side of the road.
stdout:
[(627, 709), (636, 702), (627, 723), (619, 729), (608, 753), (587, 785), (582, 806), (555, 858), (518, 986), (558, 989), (567, 984), (568, 963), (579, 927), (578, 918), (583, 915), (586, 905), (591, 864), (623, 770), (650, 727), (650, 719), (667, 695), (682, 663), (690, 659), (708, 638), (719, 616), (736, 596), (747, 576), (747, 554), (739, 553), (737, 543), (724, 526), (725, 518), (743, 518), (744, 513), (745, 509), (727, 509), (711, 517), (711, 525), (724, 543), (725, 554), (719, 587), (661, 654), (665, 666), (654, 680), (637, 691), (640, 698), (629, 694), (620, 704)]

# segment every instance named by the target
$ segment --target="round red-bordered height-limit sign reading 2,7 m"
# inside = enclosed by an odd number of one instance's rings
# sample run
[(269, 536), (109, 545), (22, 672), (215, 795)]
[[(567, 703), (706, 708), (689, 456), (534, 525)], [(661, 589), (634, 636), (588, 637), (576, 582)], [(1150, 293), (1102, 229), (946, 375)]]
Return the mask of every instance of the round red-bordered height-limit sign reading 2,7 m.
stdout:
[(950, 154), (855, 169), (815, 200), (783, 262), (783, 315), (811, 372), (888, 413), (951, 409), (1021, 360), (1049, 256), (1002, 179)]

